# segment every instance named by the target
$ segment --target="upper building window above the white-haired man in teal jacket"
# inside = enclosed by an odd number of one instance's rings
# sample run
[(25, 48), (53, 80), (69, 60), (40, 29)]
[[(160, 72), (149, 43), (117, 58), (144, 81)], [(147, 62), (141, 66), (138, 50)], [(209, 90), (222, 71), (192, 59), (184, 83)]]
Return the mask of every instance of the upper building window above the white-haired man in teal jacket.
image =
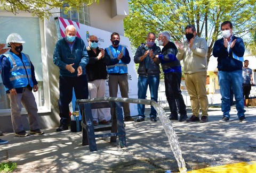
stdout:
[[(66, 6), (68, 6), (68, 4), (63, 5), (63, 7), (66, 7)], [(65, 14), (63, 9), (61, 9), (61, 18), (90, 26), (91, 22), (90, 22), (89, 6), (86, 6), (84, 4), (84, 7), (79, 8), (78, 11), (76, 9), (73, 9), (72, 11), (69, 11), (69, 14)]]

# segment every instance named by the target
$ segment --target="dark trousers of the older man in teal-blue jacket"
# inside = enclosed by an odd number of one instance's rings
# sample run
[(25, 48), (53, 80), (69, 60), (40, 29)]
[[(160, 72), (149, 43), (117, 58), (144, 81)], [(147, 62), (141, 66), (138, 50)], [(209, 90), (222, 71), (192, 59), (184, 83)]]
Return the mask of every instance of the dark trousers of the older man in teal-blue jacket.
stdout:
[(68, 125), (69, 117), (69, 103), (73, 97), (73, 88), (75, 91), (76, 99), (87, 99), (88, 98), (88, 82), (86, 75), (78, 77), (67, 77), (60, 76), (60, 124)]

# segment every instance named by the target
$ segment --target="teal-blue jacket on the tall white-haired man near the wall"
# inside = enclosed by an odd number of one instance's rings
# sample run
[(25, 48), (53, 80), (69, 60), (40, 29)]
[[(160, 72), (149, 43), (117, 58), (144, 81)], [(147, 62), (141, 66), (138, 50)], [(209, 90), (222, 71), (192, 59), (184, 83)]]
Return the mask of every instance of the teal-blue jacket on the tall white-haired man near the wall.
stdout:
[[(61, 76), (75, 77), (77, 76), (77, 68), (82, 67), (83, 73), (86, 74), (85, 66), (89, 62), (89, 56), (86, 51), (84, 41), (81, 38), (76, 37), (73, 43), (73, 49), (70, 50), (66, 37), (57, 41), (53, 54), (53, 63), (60, 68)], [(70, 73), (66, 70), (67, 64), (73, 64), (75, 69), (74, 73)]]

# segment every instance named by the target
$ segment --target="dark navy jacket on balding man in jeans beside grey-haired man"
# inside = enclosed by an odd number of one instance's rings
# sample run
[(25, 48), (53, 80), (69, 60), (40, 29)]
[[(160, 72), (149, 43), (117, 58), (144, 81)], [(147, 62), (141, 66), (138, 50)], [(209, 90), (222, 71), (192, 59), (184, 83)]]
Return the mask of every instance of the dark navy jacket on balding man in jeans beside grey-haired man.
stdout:
[[(149, 58), (148, 60), (148, 70), (146, 71), (146, 67), (145, 67), (145, 59), (143, 59), (142, 61), (140, 61), (140, 57), (142, 55), (145, 54), (145, 51), (146, 51), (146, 47), (145, 47), (146, 44), (141, 44), (138, 48), (137, 48), (137, 51), (135, 53), (135, 56), (134, 56), (134, 63), (140, 63), (139, 64), (139, 68), (138, 68), (138, 74), (140, 76), (159, 76), (160, 74), (160, 67), (159, 67), (159, 64), (160, 64), (160, 60), (157, 59), (156, 62), (153, 61), (153, 59)], [(154, 46), (152, 47), (152, 50), (154, 52), (154, 56), (155, 55), (158, 55), (158, 54), (161, 54), (161, 49), (156, 46), (156, 44), (154, 44)]]

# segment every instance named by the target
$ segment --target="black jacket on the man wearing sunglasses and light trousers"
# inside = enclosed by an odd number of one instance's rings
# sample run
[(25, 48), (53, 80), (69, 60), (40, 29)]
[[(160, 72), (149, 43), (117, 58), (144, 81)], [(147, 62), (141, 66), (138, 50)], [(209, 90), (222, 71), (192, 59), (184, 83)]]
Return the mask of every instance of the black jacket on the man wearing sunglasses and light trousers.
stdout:
[(105, 56), (100, 60), (97, 59), (97, 56), (100, 53), (100, 49), (97, 47), (97, 54), (90, 47), (86, 47), (88, 56), (89, 56), (89, 63), (86, 66), (86, 74), (87, 74), (87, 81), (94, 81), (97, 79), (107, 79), (108, 72), (107, 66), (110, 62), (110, 58)]

